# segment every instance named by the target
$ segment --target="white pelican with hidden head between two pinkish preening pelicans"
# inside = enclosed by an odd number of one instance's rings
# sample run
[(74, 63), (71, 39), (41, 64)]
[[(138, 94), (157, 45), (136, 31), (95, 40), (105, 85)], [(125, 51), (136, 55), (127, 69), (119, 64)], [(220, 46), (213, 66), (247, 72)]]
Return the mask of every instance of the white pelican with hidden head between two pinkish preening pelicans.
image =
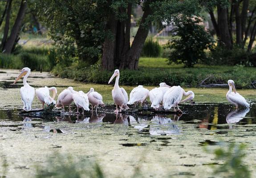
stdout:
[(78, 109), (83, 108), (86, 111), (89, 111), (89, 100), (87, 94), (83, 91), (79, 91), (77, 93), (73, 93), (73, 101), (77, 106), (77, 113), (79, 113)]

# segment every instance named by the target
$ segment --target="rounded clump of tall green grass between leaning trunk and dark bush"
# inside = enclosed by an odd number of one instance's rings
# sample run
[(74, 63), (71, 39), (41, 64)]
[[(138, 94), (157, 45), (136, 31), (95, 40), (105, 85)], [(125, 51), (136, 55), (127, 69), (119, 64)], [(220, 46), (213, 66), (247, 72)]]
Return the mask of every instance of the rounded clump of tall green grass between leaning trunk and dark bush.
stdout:
[(159, 57), (162, 51), (161, 45), (158, 41), (148, 38), (142, 48), (141, 56), (143, 57)]

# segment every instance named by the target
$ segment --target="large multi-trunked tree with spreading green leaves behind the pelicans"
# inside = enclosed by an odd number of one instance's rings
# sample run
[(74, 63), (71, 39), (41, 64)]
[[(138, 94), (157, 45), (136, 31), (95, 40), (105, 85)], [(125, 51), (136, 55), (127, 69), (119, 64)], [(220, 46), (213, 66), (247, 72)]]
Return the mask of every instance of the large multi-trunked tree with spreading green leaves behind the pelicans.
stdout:
[[(73, 55), (102, 68), (138, 69), (138, 58), (153, 21), (195, 14), (199, 0), (37, 0), (40, 14), (57, 44), (74, 46)], [(138, 31), (130, 43), (132, 9), (142, 7)]]

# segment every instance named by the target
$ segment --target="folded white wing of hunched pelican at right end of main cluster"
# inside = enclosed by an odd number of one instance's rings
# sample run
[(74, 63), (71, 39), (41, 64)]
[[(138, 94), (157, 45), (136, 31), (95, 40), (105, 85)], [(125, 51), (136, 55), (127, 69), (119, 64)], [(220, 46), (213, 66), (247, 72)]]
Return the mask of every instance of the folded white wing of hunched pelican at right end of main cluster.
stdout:
[(183, 96), (183, 89), (180, 86), (173, 86), (167, 90), (163, 96), (163, 107), (164, 109), (171, 109), (171, 107), (181, 101)]

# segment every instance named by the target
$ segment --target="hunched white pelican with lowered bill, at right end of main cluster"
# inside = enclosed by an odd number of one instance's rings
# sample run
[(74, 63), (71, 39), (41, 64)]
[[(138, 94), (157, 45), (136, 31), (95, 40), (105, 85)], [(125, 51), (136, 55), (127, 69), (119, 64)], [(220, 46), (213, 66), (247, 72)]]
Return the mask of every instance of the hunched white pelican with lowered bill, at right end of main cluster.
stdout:
[[(188, 97), (181, 101), (183, 96)], [(170, 89), (168, 89), (163, 96), (163, 107), (164, 109), (171, 109), (171, 107), (174, 107), (174, 111), (176, 112), (176, 106), (178, 111), (182, 113), (182, 111), (179, 109), (178, 104), (181, 102), (192, 100), (194, 97), (195, 94), (192, 91), (185, 92), (185, 90), (180, 86), (173, 86)]]

